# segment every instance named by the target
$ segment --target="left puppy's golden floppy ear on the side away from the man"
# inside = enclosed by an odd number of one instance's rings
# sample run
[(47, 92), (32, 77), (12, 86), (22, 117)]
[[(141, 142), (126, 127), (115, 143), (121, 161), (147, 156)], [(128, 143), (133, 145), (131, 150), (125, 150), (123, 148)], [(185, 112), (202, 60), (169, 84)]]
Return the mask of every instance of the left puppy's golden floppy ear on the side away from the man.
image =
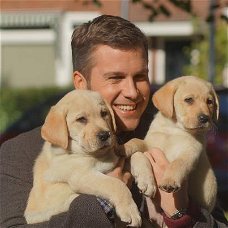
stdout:
[(68, 129), (64, 110), (59, 110), (56, 106), (51, 108), (41, 128), (41, 136), (46, 141), (67, 149)]

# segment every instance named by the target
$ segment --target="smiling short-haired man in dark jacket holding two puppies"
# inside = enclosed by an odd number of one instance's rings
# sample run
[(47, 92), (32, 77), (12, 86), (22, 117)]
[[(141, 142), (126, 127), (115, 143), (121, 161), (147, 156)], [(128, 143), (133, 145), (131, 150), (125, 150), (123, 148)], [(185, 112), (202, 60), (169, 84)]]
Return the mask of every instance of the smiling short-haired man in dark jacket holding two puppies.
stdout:
[[(127, 20), (103, 15), (79, 26), (73, 33), (71, 44), (75, 88), (98, 91), (109, 102), (115, 112), (119, 143), (132, 137), (143, 138), (149, 127), (144, 120), (149, 122), (152, 118), (145, 112), (150, 88), (148, 46), (143, 33)], [(38, 128), (3, 144), (1, 148), (1, 227), (30, 227), (26, 225), (23, 213), (32, 188), (32, 167), (42, 143)], [(159, 150), (151, 150), (147, 155), (152, 158), (159, 181), (168, 161)], [(122, 171), (123, 163), (120, 161), (119, 167), (108, 175), (128, 184), (129, 174)], [(176, 194), (158, 191), (155, 206), (158, 207), (156, 217), (160, 217), (157, 223), (168, 227), (211, 227), (216, 223), (222, 227), (222, 223), (216, 220), (220, 219), (219, 216), (215, 219), (208, 212), (200, 211), (189, 200), (186, 189), (185, 186)], [(144, 225), (151, 227), (152, 223), (146, 218), (148, 213), (150, 218), (153, 217), (154, 204), (149, 199), (146, 199), (146, 204), (134, 184), (132, 193), (141, 207)], [(112, 205), (104, 199), (80, 195), (68, 212), (32, 227), (112, 227), (115, 225), (113, 212)]]

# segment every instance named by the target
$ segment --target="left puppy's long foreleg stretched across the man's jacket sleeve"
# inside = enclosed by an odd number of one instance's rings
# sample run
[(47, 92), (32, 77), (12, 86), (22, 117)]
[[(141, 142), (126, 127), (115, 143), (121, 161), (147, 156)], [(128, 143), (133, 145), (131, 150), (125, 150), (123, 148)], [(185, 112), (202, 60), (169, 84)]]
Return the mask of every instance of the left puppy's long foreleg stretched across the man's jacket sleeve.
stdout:
[(120, 219), (130, 226), (141, 225), (141, 217), (130, 190), (117, 178), (86, 170), (80, 174), (72, 174), (69, 184), (77, 193), (96, 195), (109, 200)]

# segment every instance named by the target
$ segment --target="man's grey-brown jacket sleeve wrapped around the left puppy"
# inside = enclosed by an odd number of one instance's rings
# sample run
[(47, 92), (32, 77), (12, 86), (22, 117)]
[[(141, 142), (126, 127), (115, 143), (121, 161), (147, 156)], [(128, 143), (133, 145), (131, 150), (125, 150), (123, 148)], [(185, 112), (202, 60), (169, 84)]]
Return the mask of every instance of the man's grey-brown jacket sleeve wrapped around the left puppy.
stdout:
[(43, 145), (40, 128), (0, 148), (0, 227), (112, 227), (95, 196), (80, 195), (68, 212), (48, 222), (28, 225), (24, 210), (33, 182), (33, 165)]

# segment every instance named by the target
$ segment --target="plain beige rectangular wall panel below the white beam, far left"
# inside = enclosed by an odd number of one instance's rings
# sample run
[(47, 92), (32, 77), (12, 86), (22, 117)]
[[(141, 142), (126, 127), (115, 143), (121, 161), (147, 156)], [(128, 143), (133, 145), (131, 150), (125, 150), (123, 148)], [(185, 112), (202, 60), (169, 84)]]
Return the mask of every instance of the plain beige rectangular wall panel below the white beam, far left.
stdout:
[(3, 45), (2, 56), (2, 86), (23, 88), (55, 84), (53, 45)]

